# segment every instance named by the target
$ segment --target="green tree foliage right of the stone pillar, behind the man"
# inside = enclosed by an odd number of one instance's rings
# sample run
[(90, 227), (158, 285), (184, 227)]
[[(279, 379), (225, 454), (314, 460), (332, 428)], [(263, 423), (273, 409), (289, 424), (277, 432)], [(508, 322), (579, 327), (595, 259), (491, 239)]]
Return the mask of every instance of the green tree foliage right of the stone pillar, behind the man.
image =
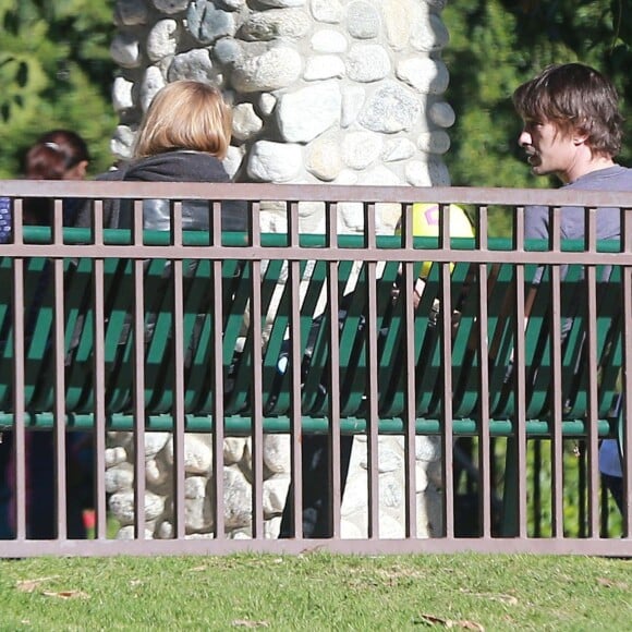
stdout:
[[(447, 100), (457, 112), (446, 156), (452, 184), (462, 186), (557, 186), (532, 175), (518, 146), (521, 121), (513, 90), (550, 63), (580, 61), (617, 85), (632, 122), (632, 0), (451, 0), (443, 11), (450, 44)], [(632, 161), (630, 146), (619, 160)], [(494, 217), (494, 232), (509, 231)]]

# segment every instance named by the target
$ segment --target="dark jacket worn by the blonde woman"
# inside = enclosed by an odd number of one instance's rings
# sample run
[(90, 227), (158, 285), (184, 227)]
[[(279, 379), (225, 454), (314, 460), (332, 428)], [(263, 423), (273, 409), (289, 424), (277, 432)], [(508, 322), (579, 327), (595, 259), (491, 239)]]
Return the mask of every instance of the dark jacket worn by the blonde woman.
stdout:
[[(97, 175), (97, 180), (126, 182), (230, 182), (222, 163), (200, 151), (168, 151), (135, 160), (120, 169)], [(221, 207), (221, 227), (224, 231), (246, 230), (247, 205), (244, 202), (224, 202)], [(90, 226), (89, 206), (78, 214), (75, 226)], [(111, 199), (104, 203), (106, 228), (130, 228), (132, 200)], [(182, 205), (184, 230), (208, 230), (208, 200), (185, 200)], [(169, 199), (146, 199), (143, 204), (143, 226), (147, 229), (170, 229)]]

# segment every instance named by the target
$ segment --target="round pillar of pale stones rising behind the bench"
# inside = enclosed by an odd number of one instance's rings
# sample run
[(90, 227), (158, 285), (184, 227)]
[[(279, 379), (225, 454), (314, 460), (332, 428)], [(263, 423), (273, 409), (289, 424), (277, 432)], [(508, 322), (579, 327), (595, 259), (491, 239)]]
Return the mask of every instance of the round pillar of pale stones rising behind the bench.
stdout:
[[(446, 1), (118, 0), (111, 53), (120, 66), (112, 92), (120, 125), (112, 151), (130, 156), (158, 89), (194, 78), (217, 85), (233, 105), (226, 165), (236, 181), (448, 185), (442, 155), (454, 113), (442, 96)], [(357, 205), (339, 210), (340, 232), (362, 230)], [(399, 206), (377, 210), (378, 231), (392, 232)], [(302, 230), (323, 227), (320, 205), (303, 205), (300, 212)], [(285, 227), (274, 205), (263, 208), (260, 222), (262, 230)], [(440, 507), (427, 485), (439, 485), (440, 476), (428, 463), (437, 463), (438, 451), (436, 441), (418, 442), (420, 535), (432, 535), (440, 530)], [(401, 473), (401, 442), (384, 441), (382, 449), (389, 458), (380, 460), (380, 472), (400, 481), (393, 472)], [(361, 452), (354, 462), (351, 484), (363, 469)], [(400, 483), (397, 493), (386, 487), (398, 515)], [(361, 520), (349, 534), (363, 530)]]

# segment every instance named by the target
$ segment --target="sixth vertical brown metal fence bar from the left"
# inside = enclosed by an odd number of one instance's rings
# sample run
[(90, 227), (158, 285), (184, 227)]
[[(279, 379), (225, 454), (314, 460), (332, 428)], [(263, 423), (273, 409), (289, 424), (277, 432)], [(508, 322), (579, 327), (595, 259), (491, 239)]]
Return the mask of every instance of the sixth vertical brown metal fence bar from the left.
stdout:
[[(252, 211), (248, 205), (248, 210)], [(250, 221), (252, 221), (252, 212)], [(221, 232), (221, 203), (212, 203), (212, 214), (210, 216), (210, 226), (212, 228), (211, 251), (221, 252), (222, 232)], [(223, 409), (223, 257), (214, 257), (211, 260), (211, 308), (212, 308), (212, 354), (211, 354), (211, 389), (212, 398), (212, 485), (215, 488), (214, 518), (215, 518), (215, 537), (216, 539), (226, 539), (226, 521), (224, 521), (224, 488), (223, 488), (223, 439), (224, 439), (224, 409)], [(229, 350), (228, 353), (234, 353)]]

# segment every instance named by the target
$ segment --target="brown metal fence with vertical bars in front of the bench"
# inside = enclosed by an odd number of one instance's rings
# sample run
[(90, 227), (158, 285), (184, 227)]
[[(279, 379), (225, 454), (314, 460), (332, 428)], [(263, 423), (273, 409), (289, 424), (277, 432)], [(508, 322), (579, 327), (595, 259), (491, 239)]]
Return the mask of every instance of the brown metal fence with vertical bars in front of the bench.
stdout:
[[(2, 181), (2, 196), (0, 557), (632, 554), (628, 460), (622, 513), (599, 473), (603, 441), (625, 455), (631, 436), (632, 195)], [(49, 226), (24, 221), (33, 198)], [(169, 230), (144, 224), (156, 199)], [(228, 203), (243, 230), (222, 230)], [(302, 230), (306, 203), (321, 233)], [(414, 234), (416, 203), (439, 205), (436, 235)], [(70, 204), (85, 226), (63, 224)], [(452, 204), (474, 238), (450, 233)], [(185, 230), (191, 205), (204, 230)], [(548, 241), (524, 236), (532, 205)], [(584, 240), (558, 236), (568, 206)], [(266, 212), (287, 231), (263, 232)], [(598, 239), (600, 212), (624, 239)]]

